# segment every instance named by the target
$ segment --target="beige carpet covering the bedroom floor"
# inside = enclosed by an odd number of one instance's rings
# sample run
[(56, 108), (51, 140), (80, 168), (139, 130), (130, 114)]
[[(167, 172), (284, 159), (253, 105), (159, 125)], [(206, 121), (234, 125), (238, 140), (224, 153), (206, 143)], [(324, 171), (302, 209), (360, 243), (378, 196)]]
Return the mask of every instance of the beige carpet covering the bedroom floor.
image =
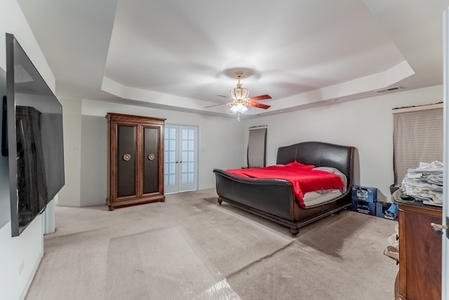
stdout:
[(394, 299), (396, 222), (343, 211), (288, 228), (215, 190), (108, 211), (56, 207), (26, 299)]

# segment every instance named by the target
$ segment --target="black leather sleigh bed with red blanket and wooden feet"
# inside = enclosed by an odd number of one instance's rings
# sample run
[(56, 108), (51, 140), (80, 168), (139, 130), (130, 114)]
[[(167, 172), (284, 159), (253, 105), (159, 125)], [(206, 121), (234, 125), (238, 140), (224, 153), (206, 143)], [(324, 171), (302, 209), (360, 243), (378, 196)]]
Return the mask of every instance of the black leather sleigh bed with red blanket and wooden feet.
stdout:
[[(350, 146), (304, 142), (279, 148), (276, 165), (263, 168), (269, 174), (260, 168), (214, 169), (217, 201), (288, 226), (295, 237), (302, 226), (351, 206), (354, 151)], [(295, 170), (305, 177), (296, 179)], [(335, 177), (333, 183), (312, 183), (319, 174), (338, 176), (342, 183)]]

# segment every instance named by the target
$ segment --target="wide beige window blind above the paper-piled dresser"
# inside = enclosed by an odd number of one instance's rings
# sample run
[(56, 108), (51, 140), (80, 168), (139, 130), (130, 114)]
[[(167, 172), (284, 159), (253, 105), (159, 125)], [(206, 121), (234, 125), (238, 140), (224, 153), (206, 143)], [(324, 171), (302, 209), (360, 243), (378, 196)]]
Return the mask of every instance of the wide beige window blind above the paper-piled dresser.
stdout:
[(443, 162), (443, 105), (423, 105), (392, 111), (394, 119), (394, 185), (420, 162)]

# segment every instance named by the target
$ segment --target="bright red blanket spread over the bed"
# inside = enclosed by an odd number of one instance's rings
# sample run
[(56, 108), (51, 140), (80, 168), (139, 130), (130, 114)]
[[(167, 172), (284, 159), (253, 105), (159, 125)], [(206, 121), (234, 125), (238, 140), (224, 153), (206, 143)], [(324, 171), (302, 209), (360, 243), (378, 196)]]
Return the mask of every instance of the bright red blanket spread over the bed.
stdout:
[(329, 190), (344, 188), (340, 176), (313, 170), (315, 166), (291, 162), (290, 164), (276, 165), (255, 169), (227, 169), (226, 171), (238, 176), (249, 178), (286, 179), (293, 184), (293, 193), (300, 207), (305, 207), (302, 198), (305, 193), (316, 190)]

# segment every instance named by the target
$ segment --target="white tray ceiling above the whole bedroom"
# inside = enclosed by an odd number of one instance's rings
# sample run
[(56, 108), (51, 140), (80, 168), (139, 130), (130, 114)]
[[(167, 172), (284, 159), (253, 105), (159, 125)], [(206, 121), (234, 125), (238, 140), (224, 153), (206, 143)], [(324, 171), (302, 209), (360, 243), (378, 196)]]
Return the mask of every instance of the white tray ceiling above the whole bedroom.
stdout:
[(59, 98), (234, 117), (216, 104), (242, 70), (272, 96), (254, 117), (443, 82), (449, 0), (18, 2)]

